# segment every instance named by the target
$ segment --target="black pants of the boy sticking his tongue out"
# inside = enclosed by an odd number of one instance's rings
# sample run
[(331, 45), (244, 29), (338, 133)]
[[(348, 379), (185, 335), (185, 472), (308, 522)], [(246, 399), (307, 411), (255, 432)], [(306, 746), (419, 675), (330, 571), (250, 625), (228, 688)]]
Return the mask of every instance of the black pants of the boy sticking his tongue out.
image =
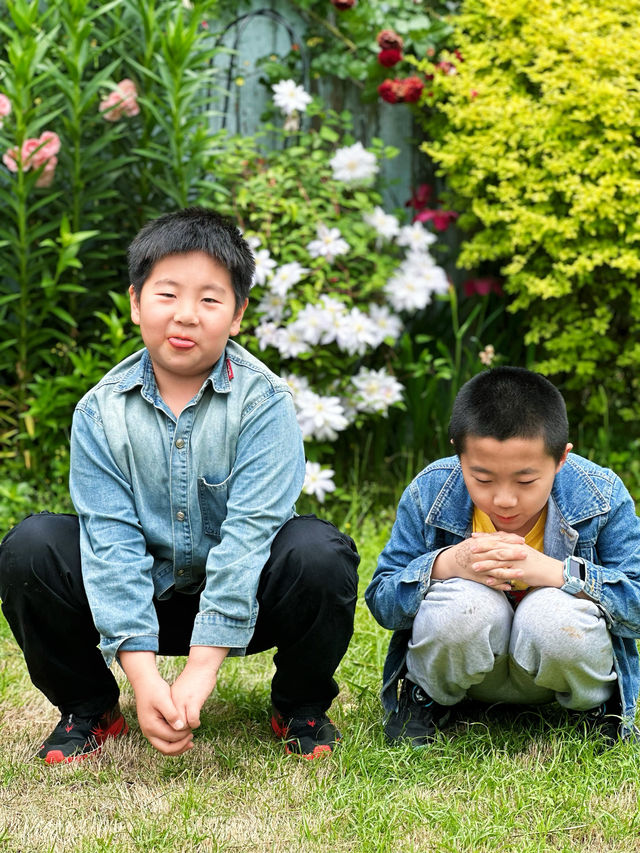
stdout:
[[(284, 715), (326, 710), (338, 693), (333, 674), (353, 633), (359, 561), (353, 540), (315, 516), (292, 518), (273, 541), (247, 654), (277, 648), (271, 696)], [(82, 582), (76, 516), (31, 515), (5, 536), (0, 598), (31, 680), (62, 713), (86, 716), (116, 703)], [(160, 654), (189, 653), (199, 598), (154, 600)]]

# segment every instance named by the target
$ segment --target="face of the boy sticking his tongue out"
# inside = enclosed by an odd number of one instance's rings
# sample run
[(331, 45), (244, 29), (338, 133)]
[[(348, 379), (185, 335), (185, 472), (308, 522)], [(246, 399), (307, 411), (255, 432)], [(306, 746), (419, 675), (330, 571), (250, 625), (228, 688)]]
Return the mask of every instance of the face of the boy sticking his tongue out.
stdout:
[(231, 275), (204, 252), (168, 255), (154, 265), (138, 299), (129, 288), (131, 319), (140, 326), (158, 387), (204, 382), (227, 340), (240, 331)]

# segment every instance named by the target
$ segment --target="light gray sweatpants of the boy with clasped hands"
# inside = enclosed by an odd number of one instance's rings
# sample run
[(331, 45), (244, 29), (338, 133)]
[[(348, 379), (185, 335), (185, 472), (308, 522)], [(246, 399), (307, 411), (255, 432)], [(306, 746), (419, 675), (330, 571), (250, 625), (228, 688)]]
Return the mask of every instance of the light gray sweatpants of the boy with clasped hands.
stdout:
[(413, 622), (407, 676), (441, 705), (468, 697), (586, 710), (615, 689), (598, 606), (560, 589), (529, 592), (514, 611), (474, 581), (434, 581)]

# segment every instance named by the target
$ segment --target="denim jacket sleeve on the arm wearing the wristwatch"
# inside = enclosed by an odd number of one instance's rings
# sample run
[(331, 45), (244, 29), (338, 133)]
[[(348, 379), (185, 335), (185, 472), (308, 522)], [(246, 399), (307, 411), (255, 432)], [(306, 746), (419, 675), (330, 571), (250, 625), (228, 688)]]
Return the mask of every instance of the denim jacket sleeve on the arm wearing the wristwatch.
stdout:
[(598, 563), (586, 561), (585, 593), (605, 611), (612, 634), (640, 638), (640, 519), (617, 476), (611, 506), (598, 532)]

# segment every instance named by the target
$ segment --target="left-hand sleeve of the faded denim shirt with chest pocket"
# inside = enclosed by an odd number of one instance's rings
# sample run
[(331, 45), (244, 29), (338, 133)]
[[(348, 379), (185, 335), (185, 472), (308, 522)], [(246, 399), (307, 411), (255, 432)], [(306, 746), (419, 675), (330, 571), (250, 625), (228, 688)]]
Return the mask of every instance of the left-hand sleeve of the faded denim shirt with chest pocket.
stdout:
[(119, 649), (157, 651), (153, 558), (131, 484), (88, 406), (73, 418), (69, 485), (80, 522), (82, 577), (107, 665)]

